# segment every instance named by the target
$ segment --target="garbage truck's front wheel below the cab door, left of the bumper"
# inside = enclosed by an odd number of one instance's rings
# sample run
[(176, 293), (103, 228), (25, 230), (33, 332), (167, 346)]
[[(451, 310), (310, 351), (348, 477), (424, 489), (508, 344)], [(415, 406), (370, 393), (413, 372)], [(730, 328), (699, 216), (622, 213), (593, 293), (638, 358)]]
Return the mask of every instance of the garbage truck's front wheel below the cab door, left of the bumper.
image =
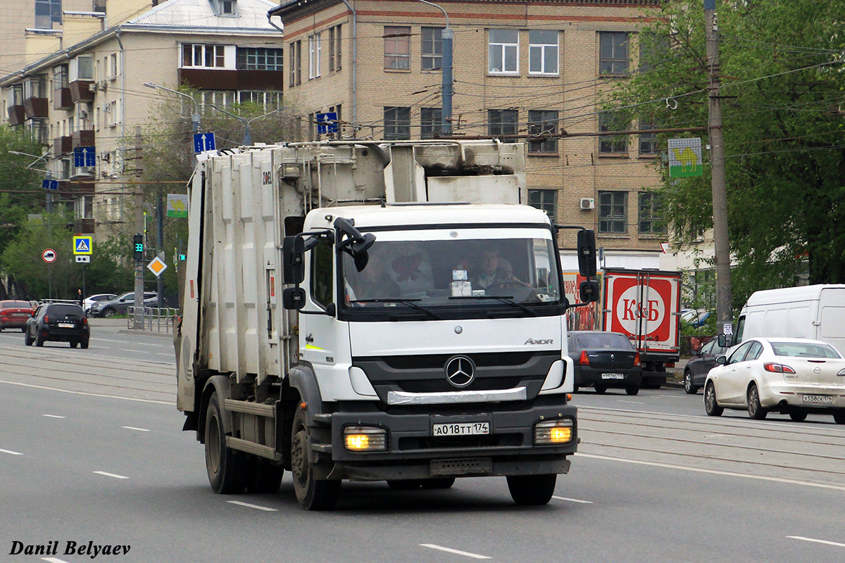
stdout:
[(297, 493), (299, 506), (305, 510), (331, 510), (341, 494), (341, 481), (314, 479), (313, 468), (308, 461), (308, 435), (305, 412), (302, 406), (297, 406), (291, 435), (293, 490)]

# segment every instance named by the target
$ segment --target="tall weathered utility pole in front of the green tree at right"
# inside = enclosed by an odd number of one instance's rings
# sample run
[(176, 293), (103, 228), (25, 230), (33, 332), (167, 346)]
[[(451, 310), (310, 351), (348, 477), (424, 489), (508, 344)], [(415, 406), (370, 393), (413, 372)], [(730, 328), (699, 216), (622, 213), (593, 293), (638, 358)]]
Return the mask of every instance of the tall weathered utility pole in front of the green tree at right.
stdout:
[(725, 187), (725, 141), (722, 132), (722, 97), (719, 89), (719, 30), (716, 0), (704, 0), (704, 31), (707, 50), (707, 72), (710, 77), (710, 116), (707, 121), (711, 154), (711, 190), (713, 193), (713, 243), (716, 259), (717, 332), (731, 333), (731, 248), (728, 238), (728, 192)]

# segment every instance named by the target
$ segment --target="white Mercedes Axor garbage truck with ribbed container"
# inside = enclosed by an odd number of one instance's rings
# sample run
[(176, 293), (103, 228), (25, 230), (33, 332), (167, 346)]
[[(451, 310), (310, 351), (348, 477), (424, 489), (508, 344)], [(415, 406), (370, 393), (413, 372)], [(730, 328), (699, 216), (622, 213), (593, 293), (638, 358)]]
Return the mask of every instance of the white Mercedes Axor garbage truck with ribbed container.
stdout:
[[(504, 476), (516, 503), (549, 501), (578, 443), (575, 303), (524, 172), (524, 145), (494, 141), (202, 155), (174, 339), (215, 491), (275, 492), (287, 469), (307, 510), (344, 479)], [(597, 300), (593, 233), (569, 228)]]

